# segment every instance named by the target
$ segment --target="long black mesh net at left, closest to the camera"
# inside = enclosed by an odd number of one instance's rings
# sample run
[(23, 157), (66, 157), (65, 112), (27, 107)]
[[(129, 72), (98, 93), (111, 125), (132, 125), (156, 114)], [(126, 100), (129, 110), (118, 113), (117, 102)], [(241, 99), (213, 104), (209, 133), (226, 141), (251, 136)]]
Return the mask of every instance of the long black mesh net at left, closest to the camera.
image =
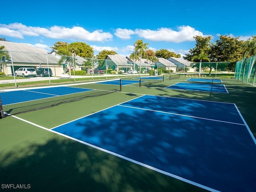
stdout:
[(0, 90), (4, 114), (19, 114), (110, 94), (121, 90), (121, 80), (104, 80), (56, 86)]

